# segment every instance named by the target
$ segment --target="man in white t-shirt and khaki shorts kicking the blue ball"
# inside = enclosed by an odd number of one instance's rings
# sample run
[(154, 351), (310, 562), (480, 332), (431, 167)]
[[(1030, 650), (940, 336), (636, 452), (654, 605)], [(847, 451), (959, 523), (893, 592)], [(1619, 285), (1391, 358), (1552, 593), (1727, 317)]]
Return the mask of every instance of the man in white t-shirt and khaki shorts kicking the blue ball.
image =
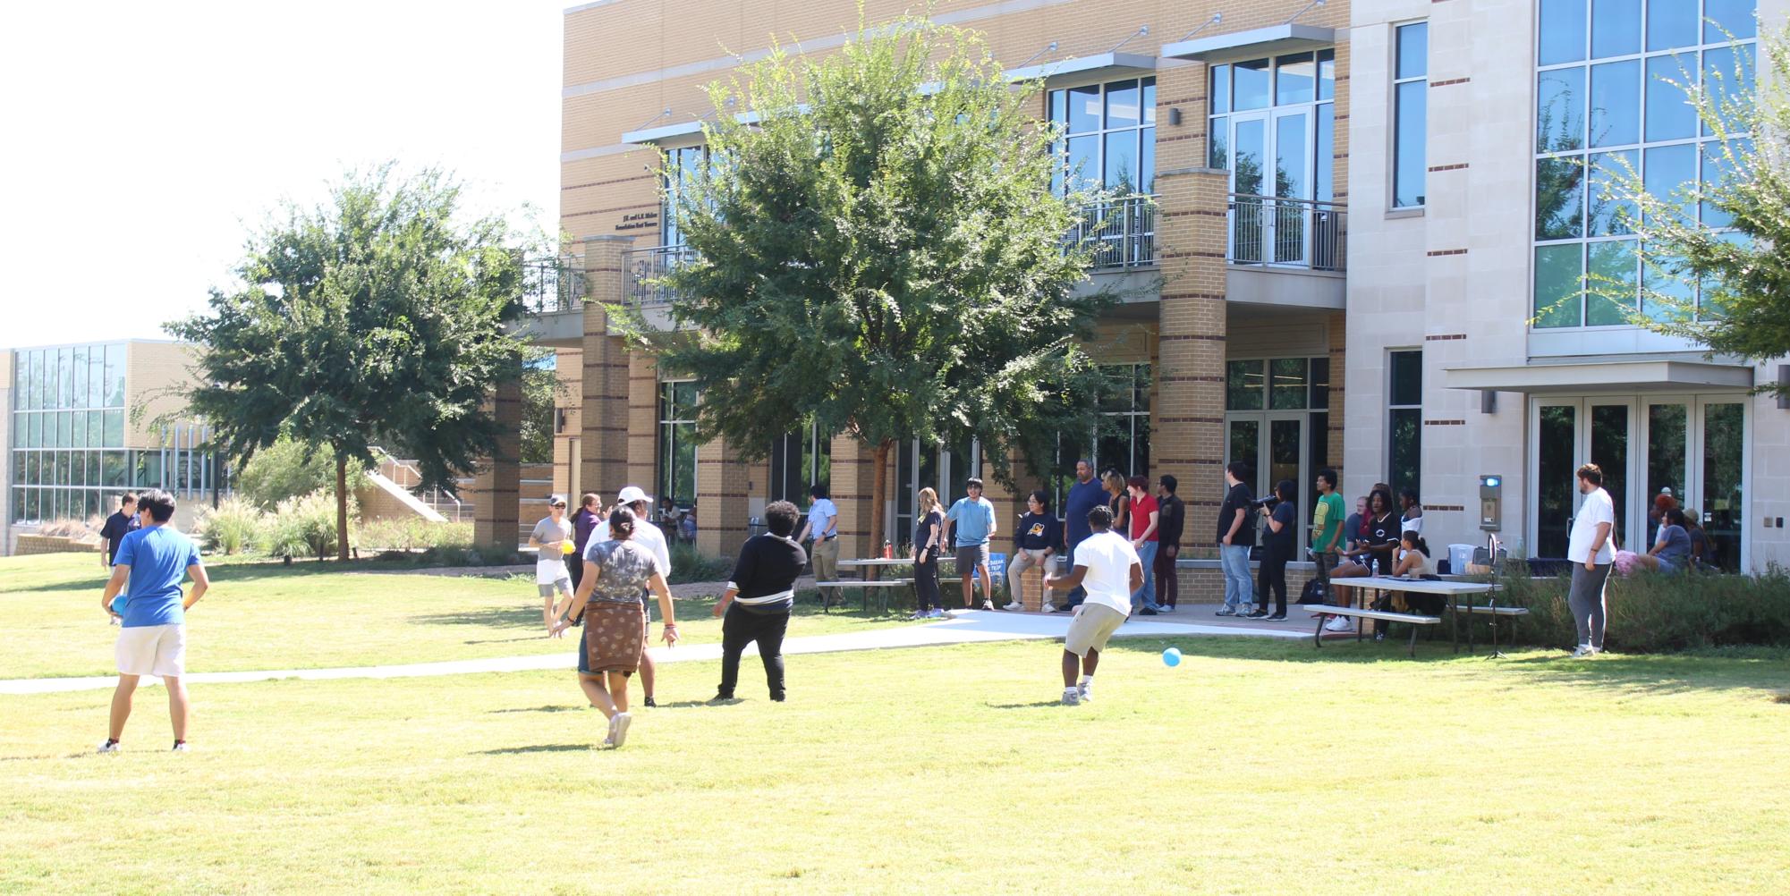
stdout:
[[(1131, 592), (1144, 587), (1144, 563), (1122, 535), (1112, 531), (1113, 511), (1099, 504), (1088, 511), (1088, 535), (1076, 545), (1074, 569), (1044, 579), (1045, 590), (1083, 588), (1088, 597), (1076, 606), (1063, 638), (1063, 705), (1094, 699), (1094, 669), (1106, 638), (1131, 615)], [(1076, 681), (1076, 667), (1081, 681)]]

